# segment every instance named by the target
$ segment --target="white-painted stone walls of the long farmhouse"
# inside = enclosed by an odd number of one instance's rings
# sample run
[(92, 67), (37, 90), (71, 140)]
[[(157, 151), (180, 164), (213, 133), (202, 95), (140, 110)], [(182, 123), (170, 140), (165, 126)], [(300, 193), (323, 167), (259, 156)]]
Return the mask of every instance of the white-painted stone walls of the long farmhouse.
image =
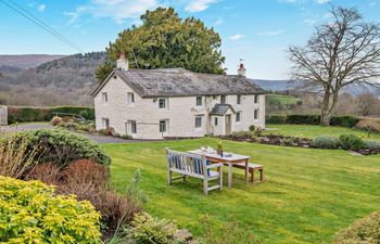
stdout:
[[(102, 101), (102, 92), (107, 93), (107, 102)], [(202, 106), (197, 106), (195, 97), (168, 98), (167, 108), (159, 108), (159, 99), (142, 99), (135, 93), (135, 104), (128, 104), (128, 92), (134, 92), (119, 77), (111, 77), (109, 82), (94, 97), (96, 125), (102, 128), (102, 118), (110, 119), (110, 126), (119, 134), (126, 134), (125, 124), (128, 120), (137, 121), (138, 139), (161, 139), (164, 137), (203, 137), (206, 133), (220, 134), (225, 132), (225, 118), (218, 117), (218, 128), (214, 128), (214, 119), (208, 112), (220, 97), (203, 97)], [(154, 102), (155, 101), (155, 102)], [(232, 131), (248, 130), (252, 124), (265, 126), (265, 95), (259, 95), (259, 103), (254, 104), (254, 95), (242, 95), (242, 104), (237, 104), (237, 95), (228, 95), (227, 103), (235, 111), (242, 111), (242, 121), (236, 124), (232, 116)], [(259, 119), (254, 121), (253, 113), (259, 108)], [(195, 116), (202, 116), (202, 127), (195, 128)], [(168, 119), (168, 131), (160, 133), (159, 123)]]

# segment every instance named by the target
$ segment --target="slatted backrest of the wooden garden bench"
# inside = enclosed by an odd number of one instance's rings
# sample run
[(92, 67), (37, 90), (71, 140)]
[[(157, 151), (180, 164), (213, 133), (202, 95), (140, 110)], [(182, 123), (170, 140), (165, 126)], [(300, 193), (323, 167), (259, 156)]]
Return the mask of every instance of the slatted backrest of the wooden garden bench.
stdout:
[(207, 176), (207, 160), (204, 155), (182, 153), (166, 149), (167, 167), (183, 174)]

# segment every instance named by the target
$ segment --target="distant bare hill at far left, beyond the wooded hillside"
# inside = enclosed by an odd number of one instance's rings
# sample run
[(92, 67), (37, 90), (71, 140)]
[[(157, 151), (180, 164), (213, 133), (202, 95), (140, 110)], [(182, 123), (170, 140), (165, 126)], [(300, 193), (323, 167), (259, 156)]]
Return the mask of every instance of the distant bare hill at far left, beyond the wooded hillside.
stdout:
[(13, 66), (21, 69), (37, 67), (38, 65), (64, 57), (64, 55), (26, 54), (26, 55), (0, 55), (1, 66)]

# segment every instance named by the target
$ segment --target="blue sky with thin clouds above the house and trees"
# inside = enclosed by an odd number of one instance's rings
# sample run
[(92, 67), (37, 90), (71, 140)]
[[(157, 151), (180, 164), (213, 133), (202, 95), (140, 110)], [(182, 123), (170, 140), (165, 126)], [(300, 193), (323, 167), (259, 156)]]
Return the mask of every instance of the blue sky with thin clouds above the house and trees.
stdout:
[(81, 52), (103, 51), (147, 10), (173, 7), (219, 33), (228, 74), (237, 74), (242, 59), (256, 79), (288, 79), (288, 47), (305, 44), (315, 26), (331, 18), (331, 5), (355, 7), (380, 23), (380, 0), (0, 0), (0, 54), (79, 52), (3, 3), (12, 1)]

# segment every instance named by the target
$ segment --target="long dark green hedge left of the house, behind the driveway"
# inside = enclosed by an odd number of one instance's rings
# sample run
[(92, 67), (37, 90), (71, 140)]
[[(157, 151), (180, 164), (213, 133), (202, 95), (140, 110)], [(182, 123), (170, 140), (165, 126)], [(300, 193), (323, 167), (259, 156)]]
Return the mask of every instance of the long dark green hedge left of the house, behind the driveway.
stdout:
[(9, 106), (8, 124), (25, 121), (50, 121), (56, 113), (81, 115), (86, 119), (94, 119), (93, 107), (86, 106), (54, 106), (54, 107), (26, 107)]

